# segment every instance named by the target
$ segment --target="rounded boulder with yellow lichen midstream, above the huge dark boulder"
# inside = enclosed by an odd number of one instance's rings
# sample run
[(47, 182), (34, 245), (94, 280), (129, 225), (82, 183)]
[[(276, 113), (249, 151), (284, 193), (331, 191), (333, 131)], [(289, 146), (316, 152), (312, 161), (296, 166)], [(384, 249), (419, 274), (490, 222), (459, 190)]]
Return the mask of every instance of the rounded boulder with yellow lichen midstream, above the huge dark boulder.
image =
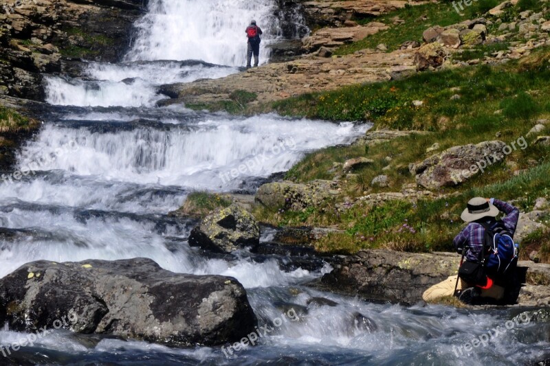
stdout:
[(256, 218), (236, 203), (216, 209), (192, 229), (191, 247), (221, 253), (231, 253), (244, 247), (256, 247), (260, 242), (260, 225)]

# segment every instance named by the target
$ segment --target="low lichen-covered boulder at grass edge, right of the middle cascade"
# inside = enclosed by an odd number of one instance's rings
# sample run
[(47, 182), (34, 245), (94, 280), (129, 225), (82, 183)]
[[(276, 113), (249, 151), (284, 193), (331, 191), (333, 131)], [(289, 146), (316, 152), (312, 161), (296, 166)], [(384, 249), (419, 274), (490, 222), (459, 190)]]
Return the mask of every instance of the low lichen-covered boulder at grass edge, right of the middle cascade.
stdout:
[(256, 192), (256, 202), (266, 207), (300, 211), (320, 207), (338, 194), (331, 181), (311, 181), (307, 184), (276, 182), (262, 185)]

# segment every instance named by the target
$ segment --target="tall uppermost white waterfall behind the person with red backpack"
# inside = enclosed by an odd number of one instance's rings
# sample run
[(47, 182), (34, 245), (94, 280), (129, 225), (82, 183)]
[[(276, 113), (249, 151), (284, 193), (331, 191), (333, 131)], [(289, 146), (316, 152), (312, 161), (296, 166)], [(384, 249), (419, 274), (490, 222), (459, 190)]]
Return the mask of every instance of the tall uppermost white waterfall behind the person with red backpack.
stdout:
[[(277, 36), (273, 0), (151, 0), (137, 22), (128, 60), (203, 60), (244, 66), (245, 28), (252, 19), (264, 31), (263, 45)], [(260, 62), (269, 50), (261, 47)]]

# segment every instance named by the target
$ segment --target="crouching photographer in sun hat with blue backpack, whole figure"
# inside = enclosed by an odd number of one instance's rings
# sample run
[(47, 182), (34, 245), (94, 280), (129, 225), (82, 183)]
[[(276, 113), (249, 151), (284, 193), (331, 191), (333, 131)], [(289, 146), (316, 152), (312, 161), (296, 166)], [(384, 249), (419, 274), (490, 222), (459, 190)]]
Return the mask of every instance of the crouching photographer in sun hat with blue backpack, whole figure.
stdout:
[[(499, 211), (506, 215), (502, 220), (496, 220)], [(428, 288), (422, 295), (424, 301), (453, 295), (459, 295), (467, 304), (472, 304), (476, 297), (503, 299), (517, 263), (513, 237), (519, 214), (519, 209), (509, 203), (472, 198), (461, 215), (468, 225), (453, 241), (456, 251), (466, 260), (461, 262), (458, 276), (450, 276)]]

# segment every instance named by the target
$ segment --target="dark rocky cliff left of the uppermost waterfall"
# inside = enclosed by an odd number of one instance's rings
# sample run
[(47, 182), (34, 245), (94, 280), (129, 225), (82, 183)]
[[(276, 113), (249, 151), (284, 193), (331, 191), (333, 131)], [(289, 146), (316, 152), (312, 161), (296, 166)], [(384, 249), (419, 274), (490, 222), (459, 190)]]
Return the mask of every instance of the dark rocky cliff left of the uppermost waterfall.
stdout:
[(144, 0), (32, 0), (0, 5), (0, 95), (43, 100), (41, 73), (70, 60), (114, 62), (130, 44)]

